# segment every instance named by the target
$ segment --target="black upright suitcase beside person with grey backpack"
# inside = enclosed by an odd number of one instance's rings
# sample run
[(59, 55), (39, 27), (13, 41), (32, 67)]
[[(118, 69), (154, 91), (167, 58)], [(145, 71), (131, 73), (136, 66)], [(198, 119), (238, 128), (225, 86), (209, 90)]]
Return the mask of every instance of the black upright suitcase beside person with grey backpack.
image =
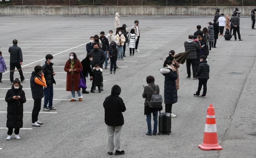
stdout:
[(172, 127), (171, 113), (160, 113), (158, 117), (158, 134), (164, 133), (170, 135)]

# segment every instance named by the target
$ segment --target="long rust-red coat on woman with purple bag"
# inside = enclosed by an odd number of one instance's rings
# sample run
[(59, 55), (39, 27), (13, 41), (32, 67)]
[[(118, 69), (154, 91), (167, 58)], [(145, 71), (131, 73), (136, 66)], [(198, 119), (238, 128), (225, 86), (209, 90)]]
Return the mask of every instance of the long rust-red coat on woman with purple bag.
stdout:
[(69, 72), (70, 67), (71, 67), (71, 63), (69, 63), (69, 60), (68, 60), (64, 67), (64, 71), (67, 72), (66, 91), (72, 91), (72, 80), (74, 82), (74, 91), (80, 91), (81, 89), (78, 88), (78, 84), (80, 80), (80, 70), (83, 69), (82, 64), (80, 61), (78, 60), (76, 61), (76, 63), (74, 64), (74, 69), (76, 69), (76, 71), (74, 71), (73, 74)]

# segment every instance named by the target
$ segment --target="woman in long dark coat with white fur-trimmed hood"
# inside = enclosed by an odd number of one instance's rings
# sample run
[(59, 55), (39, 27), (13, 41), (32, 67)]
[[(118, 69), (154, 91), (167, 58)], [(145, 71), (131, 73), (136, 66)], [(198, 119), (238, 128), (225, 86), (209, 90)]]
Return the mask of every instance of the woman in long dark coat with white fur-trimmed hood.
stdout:
[(172, 113), (172, 104), (178, 101), (176, 79), (178, 79), (177, 71), (172, 65), (171, 60), (164, 61), (164, 67), (160, 69), (160, 73), (164, 75), (164, 103), (165, 112), (171, 113), (171, 117), (176, 117)]

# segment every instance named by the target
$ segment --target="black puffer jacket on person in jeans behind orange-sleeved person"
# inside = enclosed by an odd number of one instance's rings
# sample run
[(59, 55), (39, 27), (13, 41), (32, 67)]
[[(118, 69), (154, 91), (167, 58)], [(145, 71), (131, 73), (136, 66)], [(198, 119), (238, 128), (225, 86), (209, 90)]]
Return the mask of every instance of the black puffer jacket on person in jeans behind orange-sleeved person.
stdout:
[(53, 77), (54, 75), (52, 75), (52, 73), (54, 73), (52, 65), (53, 65), (53, 63), (50, 63), (50, 65), (49, 65), (45, 61), (44, 65), (42, 66), (42, 71), (44, 73), (46, 85), (49, 85), (49, 86), (56, 84), (54, 77)]

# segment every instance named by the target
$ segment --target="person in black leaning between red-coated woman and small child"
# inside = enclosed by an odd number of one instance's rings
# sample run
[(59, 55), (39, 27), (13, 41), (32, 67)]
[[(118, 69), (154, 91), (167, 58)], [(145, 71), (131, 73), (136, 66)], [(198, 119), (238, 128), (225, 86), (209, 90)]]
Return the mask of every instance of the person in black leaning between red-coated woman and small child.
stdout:
[[(86, 76), (87, 73), (89, 73), (90, 75), (90, 79), (92, 80), (92, 69), (91, 69), (91, 61), (93, 60), (93, 56), (92, 54), (88, 54), (87, 57), (85, 59), (83, 59), (81, 61), (82, 67), (83, 67), (83, 76)], [(84, 79), (85, 83), (86, 83), (86, 79)], [(88, 94), (89, 92), (86, 91), (86, 89), (82, 88), (82, 93), (83, 94)]]

